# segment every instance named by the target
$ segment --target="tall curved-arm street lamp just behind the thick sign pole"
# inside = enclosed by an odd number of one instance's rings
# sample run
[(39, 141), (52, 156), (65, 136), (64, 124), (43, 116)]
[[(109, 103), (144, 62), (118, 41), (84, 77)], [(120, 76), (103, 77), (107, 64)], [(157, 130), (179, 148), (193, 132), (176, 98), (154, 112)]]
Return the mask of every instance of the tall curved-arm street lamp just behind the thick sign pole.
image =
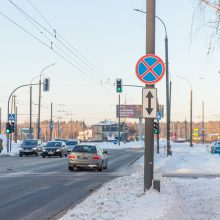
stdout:
[[(145, 13), (140, 9), (134, 9), (135, 11)], [(165, 60), (166, 60), (166, 107), (167, 107), (167, 128), (166, 128), (166, 136), (167, 136), (167, 156), (172, 155), (171, 146), (170, 146), (170, 109), (171, 109), (171, 90), (169, 86), (171, 86), (171, 82), (169, 83), (169, 57), (168, 57), (168, 37), (167, 37), (167, 28), (163, 20), (155, 16), (163, 25), (165, 30)], [(169, 85), (170, 84), (170, 85)]]

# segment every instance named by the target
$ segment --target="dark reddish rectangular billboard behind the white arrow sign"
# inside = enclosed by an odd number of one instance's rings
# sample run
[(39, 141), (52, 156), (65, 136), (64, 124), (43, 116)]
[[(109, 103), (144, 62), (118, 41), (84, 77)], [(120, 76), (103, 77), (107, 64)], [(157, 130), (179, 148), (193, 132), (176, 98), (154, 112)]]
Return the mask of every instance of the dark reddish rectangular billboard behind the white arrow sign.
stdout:
[[(116, 117), (119, 117), (119, 105), (116, 105)], [(142, 105), (120, 105), (121, 118), (142, 118)]]

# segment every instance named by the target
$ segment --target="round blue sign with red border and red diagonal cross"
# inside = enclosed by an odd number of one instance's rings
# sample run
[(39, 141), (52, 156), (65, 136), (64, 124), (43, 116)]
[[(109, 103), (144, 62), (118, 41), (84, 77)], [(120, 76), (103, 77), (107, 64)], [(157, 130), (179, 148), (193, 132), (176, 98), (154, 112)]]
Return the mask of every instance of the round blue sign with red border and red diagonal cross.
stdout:
[(152, 85), (158, 83), (164, 76), (165, 64), (154, 54), (147, 54), (136, 64), (136, 75), (143, 83)]

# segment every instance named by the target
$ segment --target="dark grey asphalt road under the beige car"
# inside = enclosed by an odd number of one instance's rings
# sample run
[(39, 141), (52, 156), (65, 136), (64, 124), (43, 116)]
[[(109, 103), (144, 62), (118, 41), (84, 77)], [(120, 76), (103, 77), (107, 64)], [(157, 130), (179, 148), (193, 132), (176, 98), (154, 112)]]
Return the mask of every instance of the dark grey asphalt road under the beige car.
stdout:
[(69, 171), (67, 158), (0, 157), (0, 219), (57, 219), (103, 183), (128, 175), (143, 149), (109, 150), (108, 170)]

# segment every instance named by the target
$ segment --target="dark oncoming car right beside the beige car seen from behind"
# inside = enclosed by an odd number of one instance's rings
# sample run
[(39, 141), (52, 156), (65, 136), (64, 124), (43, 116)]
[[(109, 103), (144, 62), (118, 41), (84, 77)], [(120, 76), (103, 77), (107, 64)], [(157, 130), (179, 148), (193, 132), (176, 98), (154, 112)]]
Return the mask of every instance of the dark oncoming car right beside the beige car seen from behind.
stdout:
[(49, 141), (44, 146), (41, 156), (45, 158), (46, 156), (66, 156), (67, 157), (67, 147), (63, 141)]

